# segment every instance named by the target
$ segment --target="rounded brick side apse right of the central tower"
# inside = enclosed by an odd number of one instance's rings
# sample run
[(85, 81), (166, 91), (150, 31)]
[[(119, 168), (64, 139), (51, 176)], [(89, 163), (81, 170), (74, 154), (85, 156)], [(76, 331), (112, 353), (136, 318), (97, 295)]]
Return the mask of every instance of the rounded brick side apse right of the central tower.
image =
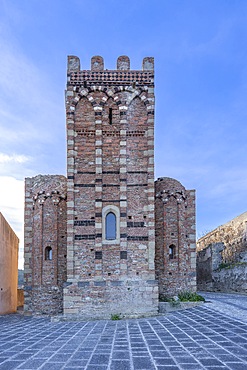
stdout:
[(162, 177), (155, 182), (156, 277), (161, 296), (196, 291), (195, 190)]

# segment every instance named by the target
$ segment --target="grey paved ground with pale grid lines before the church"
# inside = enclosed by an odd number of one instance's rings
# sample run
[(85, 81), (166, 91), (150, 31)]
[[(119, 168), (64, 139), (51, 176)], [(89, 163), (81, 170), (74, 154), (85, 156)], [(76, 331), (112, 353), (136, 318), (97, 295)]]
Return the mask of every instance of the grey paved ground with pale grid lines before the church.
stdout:
[(247, 369), (247, 323), (210, 303), (148, 319), (0, 316), (0, 369)]

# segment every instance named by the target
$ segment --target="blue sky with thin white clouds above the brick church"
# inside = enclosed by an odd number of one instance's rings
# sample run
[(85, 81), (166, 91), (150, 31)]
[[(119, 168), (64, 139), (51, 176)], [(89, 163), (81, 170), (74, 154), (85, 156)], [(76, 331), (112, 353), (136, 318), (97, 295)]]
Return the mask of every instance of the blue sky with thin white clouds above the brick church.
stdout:
[(0, 0), (0, 211), (21, 239), (25, 177), (65, 174), (67, 55), (155, 58), (156, 177), (197, 192), (197, 233), (245, 212), (245, 0)]

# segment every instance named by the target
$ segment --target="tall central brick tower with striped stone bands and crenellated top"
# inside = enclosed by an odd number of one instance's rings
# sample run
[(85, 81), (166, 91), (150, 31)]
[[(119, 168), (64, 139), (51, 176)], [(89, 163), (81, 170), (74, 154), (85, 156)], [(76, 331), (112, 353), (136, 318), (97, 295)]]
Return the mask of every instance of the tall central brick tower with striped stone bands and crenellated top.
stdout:
[[(154, 63), (91, 70), (68, 58), (68, 258), (64, 313), (157, 312), (154, 270)], [(116, 235), (107, 237), (107, 215)]]

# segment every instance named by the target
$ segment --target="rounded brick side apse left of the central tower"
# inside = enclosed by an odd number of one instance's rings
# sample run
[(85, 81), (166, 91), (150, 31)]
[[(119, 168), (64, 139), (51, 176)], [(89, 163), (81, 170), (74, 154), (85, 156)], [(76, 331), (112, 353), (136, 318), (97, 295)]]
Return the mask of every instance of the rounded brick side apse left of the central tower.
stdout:
[(66, 178), (25, 180), (25, 311), (57, 314), (66, 281)]

